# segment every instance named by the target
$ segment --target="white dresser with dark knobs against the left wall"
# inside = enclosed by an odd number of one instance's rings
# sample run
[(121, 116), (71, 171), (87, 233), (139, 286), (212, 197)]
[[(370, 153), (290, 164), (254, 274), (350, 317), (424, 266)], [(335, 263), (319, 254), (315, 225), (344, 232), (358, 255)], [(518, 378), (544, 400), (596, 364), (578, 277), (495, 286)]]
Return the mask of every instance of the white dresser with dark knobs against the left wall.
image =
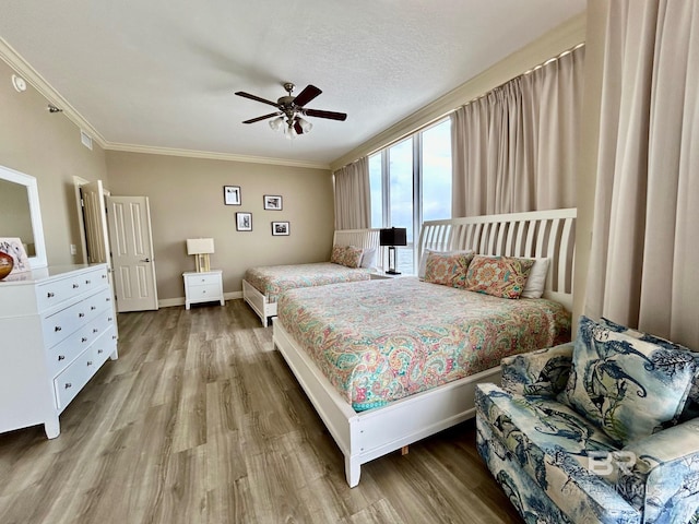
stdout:
[(117, 324), (106, 264), (49, 266), (0, 281), (0, 432), (58, 416), (111, 357)]

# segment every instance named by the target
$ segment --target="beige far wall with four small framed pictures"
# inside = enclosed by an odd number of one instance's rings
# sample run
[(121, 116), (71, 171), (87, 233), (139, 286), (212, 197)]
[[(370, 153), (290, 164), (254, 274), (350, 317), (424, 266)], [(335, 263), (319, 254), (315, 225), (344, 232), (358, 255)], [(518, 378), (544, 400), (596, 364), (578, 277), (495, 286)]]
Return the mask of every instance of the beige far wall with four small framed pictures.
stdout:
[[(240, 291), (245, 270), (253, 265), (330, 259), (334, 204), (328, 170), (116, 151), (106, 158), (111, 194), (149, 196), (164, 306), (178, 303), (182, 272), (194, 270), (187, 238), (214, 238), (211, 265), (224, 272), (224, 293)], [(224, 204), (224, 186), (240, 187), (241, 205)], [(264, 194), (282, 195), (283, 210), (263, 211)], [(252, 213), (252, 231), (236, 231), (236, 212)], [(273, 221), (288, 221), (291, 235), (273, 237)]]

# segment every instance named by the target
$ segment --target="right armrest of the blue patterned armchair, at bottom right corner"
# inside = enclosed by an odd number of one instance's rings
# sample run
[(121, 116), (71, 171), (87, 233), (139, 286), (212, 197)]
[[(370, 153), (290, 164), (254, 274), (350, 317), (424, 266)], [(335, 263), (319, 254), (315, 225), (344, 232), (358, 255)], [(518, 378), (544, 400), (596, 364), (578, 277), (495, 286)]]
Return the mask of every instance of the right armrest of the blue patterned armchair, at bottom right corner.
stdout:
[(617, 490), (643, 522), (690, 522), (699, 515), (699, 418), (631, 442), (623, 450), (635, 456), (621, 468)]

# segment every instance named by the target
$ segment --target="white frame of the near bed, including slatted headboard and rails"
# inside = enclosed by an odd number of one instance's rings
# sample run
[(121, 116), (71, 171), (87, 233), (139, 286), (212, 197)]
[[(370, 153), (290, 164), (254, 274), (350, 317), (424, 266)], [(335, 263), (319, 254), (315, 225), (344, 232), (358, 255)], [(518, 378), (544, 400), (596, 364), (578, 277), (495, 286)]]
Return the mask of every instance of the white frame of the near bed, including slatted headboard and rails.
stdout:
[[(548, 257), (544, 296), (570, 310), (574, 219), (572, 209), (426, 222), (418, 254), (425, 249), (474, 249), (482, 254)], [(476, 384), (500, 380), (496, 367), (356, 413), (279, 321), (273, 341), (345, 456), (352, 488), (359, 484), (362, 464), (472, 418)]]

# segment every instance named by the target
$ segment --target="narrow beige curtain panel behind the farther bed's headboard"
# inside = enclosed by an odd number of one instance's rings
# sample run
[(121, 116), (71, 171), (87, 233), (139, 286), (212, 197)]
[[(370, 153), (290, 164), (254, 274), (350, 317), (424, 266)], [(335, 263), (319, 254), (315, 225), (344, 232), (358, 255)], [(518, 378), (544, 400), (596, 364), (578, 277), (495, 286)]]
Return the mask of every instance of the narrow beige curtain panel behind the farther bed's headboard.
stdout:
[(333, 172), (335, 177), (335, 229), (371, 226), (369, 157), (365, 156)]

